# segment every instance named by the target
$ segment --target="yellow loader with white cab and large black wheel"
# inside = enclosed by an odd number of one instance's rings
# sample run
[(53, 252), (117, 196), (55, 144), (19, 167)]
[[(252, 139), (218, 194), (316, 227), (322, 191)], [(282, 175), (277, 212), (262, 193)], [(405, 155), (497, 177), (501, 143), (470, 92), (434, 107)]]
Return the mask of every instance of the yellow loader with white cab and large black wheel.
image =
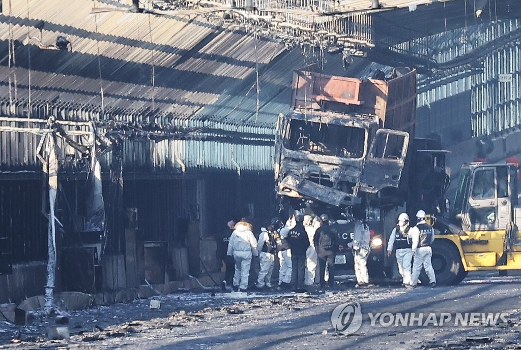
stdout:
[[(438, 284), (468, 271), (521, 269), (521, 224), (515, 164), (464, 164), (448, 218), (438, 218), (432, 266)], [(501, 274), (501, 272), (500, 272)]]

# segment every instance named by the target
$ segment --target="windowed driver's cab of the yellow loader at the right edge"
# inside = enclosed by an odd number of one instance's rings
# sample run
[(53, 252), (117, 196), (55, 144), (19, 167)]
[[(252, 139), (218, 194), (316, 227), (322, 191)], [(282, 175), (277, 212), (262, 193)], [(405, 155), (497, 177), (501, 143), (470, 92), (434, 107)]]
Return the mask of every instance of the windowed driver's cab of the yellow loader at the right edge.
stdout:
[(514, 164), (469, 163), (462, 166), (452, 219), (464, 231), (504, 230), (515, 221), (517, 176)]

